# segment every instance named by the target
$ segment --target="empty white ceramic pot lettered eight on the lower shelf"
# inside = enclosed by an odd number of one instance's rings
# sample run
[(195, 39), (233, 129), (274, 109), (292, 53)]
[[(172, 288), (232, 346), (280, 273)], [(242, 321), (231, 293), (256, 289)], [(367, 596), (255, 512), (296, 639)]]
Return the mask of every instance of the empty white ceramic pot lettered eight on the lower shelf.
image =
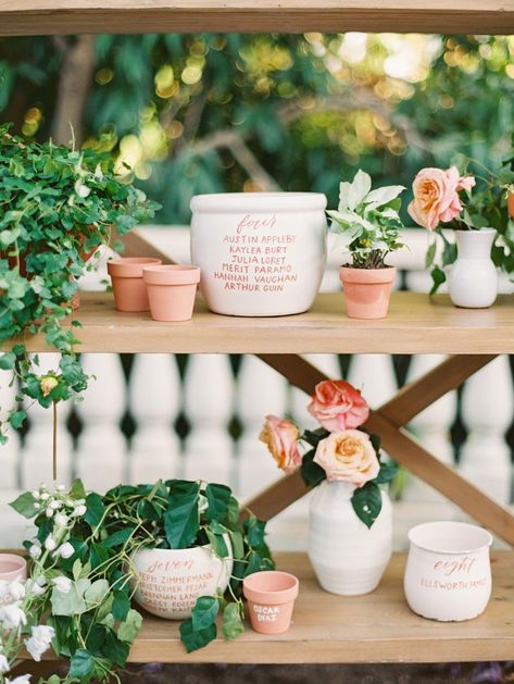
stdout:
[(409, 539), (403, 587), (414, 612), (440, 622), (484, 612), (491, 596), (492, 537), (487, 530), (438, 521), (416, 525)]

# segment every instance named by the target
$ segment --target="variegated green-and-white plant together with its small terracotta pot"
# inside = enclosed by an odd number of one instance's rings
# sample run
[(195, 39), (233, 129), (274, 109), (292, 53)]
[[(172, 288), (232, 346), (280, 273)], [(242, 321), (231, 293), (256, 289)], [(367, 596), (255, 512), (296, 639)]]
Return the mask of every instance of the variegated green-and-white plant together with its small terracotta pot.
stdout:
[(403, 247), (399, 211), (401, 185), (372, 189), (372, 178), (359, 170), (352, 183), (341, 183), (339, 207), (328, 211), (330, 231), (341, 234), (352, 262), (342, 265), (347, 313), (352, 319), (383, 319), (387, 315), (396, 268), (387, 256)]

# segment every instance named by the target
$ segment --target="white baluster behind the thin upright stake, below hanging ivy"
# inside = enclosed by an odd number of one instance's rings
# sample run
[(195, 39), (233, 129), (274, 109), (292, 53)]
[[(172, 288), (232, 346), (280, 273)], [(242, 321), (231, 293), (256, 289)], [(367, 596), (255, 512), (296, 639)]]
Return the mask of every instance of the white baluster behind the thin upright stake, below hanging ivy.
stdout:
[[(45, 375), (59, 371), (60, 355), (40, 353), (37, 373)], [(41, 482), (52, 482), (52, 408), (45, 409), (33, 399), (25, 398), (24, 406), (28, 410), (30, 428), (25, 439), (22, 453), (22, 487), (34, 489)], [(58, 410), (58, 483), (68, 485), (72, 478), (73, 443), (66, 428), (66, 420), (72, 408), (71, 401), (59, 401)]]

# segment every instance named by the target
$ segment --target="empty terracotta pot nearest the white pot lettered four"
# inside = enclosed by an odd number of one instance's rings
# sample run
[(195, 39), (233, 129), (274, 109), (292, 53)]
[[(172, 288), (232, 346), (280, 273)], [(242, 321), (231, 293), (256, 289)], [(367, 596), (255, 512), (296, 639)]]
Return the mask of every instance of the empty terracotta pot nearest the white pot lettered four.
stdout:
[(189, 321), (192, 316), (200, 269), (167, 264), (142, 272), (154, 321)]

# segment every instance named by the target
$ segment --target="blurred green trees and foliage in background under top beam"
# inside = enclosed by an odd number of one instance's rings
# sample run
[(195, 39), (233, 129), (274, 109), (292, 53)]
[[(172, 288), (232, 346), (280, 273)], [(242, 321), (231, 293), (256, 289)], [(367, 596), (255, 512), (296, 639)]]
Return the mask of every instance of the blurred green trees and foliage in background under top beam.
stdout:
[[(222, 190), (318, 190), (359, 166), (411, 185), (462, 153), (512, 156), (514, 37), (317, 33), (0, 39), (0, 122), (110, 150), (189, 221)], [(127, 169), (130, 166), (131, 171)]]

